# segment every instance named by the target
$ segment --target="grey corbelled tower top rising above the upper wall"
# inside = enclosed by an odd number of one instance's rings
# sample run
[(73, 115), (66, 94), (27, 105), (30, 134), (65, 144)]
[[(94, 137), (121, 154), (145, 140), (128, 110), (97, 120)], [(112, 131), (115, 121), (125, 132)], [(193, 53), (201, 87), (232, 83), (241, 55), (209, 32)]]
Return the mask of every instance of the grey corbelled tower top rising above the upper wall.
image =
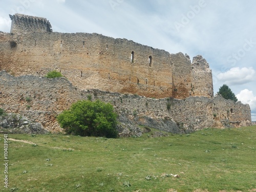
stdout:
[(52, 32), (49, 20), (23, 14), (9, 15), (12, 20), (11, 33)]

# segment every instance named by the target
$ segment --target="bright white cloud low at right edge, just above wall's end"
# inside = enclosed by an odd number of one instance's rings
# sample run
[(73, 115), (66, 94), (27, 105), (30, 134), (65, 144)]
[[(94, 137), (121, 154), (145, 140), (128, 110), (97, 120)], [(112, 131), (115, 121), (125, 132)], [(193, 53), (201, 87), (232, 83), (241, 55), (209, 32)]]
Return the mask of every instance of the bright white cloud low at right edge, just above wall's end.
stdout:
[(237, 94), (236, 97), (242, 103), (249, 104), (251, 111), (256, 112), (256, 96), (253, 95), (252, 91), (244, 89), (239, 94)]

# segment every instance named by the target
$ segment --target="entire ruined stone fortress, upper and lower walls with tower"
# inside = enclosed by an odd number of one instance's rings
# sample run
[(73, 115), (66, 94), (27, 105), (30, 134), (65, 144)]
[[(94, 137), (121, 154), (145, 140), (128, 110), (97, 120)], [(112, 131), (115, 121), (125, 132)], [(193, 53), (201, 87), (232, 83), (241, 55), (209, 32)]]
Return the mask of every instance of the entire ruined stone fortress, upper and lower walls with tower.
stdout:
[[(111, 102), (120, 122), (173, 133), (251, 125), (249, 105), (213, 97), (211, 70), (200, 55), (191, 61), (132, 40), (40, 25), (27, 31), (32, 16), (11, 18), (12, 33), (0, 32), (1, 108), (49, 131), (60, 131), (56, 115), (88, 95)], [(52, 70), (66, 78), (45, 78)]]

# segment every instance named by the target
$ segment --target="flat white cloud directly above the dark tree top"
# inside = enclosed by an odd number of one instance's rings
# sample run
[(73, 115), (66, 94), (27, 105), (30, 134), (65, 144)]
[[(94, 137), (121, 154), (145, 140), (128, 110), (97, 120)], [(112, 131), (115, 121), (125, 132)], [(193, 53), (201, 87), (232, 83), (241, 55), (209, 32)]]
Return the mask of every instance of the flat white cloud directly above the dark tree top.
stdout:
[(226, 84), (234, 85), (234, 84), (245, 84), (247, 82), (254, 80), (255, 70), (252, 67), (244, 67), (244, 68), (231, 68), (229, 71), (225, 73), (219, 73), (217, 78), (220, 81), (223, 81)]

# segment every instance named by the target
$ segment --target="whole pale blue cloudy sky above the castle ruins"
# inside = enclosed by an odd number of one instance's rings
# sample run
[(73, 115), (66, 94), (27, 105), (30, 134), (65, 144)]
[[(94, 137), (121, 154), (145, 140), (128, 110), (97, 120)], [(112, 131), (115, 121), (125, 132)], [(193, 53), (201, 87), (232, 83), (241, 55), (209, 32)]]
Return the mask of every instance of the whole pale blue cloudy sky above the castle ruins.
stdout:
[(46, 17), (54, 32), (99, 33), (169, 53), (202, 55), (215, 94), (225, 83), (256, 121), (254, 0), (0, 0), (0, 31), (9, 14)]

